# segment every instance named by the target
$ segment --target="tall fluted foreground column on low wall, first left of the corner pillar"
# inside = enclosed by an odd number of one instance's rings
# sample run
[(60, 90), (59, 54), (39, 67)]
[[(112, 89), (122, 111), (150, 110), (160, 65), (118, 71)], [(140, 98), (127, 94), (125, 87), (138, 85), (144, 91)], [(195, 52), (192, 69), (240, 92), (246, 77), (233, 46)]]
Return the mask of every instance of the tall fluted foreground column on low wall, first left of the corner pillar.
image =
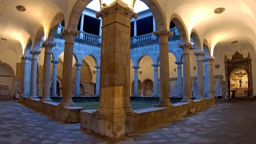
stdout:
[(72, 101), (72, 62), (73, 62), (73, 46), (74, 38), (79, 35), (76, 30), (65, 29), (61, 32), (65, 35), (64, 61), (63, 61), (63, 85), (61, 106), (75, 106)]

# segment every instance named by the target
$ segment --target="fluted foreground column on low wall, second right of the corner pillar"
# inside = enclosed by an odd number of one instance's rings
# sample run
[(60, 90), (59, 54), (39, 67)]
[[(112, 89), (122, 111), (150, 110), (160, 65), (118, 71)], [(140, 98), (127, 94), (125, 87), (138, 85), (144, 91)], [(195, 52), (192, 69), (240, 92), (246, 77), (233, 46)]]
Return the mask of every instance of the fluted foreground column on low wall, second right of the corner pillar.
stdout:
[(179, 44), (182, 48), (182, 60), (183, 60), (183, 98), (180, 102), (192, 102), (191, 99), (191, 87), (190, 87), (190, 60), (189, 50), (192, 48), (192, 44)]

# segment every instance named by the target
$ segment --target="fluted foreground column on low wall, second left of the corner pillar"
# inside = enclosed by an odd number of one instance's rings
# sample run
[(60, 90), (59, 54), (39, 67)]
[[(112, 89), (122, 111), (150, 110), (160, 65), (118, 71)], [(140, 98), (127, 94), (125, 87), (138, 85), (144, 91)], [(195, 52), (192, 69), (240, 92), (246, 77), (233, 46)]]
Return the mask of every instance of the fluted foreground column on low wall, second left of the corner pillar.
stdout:
[(43, 66), (43, 92), (42, 92), (42, 102), (52, 101), (50, 98), (50, 67), (51, 67), (51, 56), (52, 56), (52, 47), (55, 43), (44, 42), (42, 47), (44, 50), (44, 66)]

